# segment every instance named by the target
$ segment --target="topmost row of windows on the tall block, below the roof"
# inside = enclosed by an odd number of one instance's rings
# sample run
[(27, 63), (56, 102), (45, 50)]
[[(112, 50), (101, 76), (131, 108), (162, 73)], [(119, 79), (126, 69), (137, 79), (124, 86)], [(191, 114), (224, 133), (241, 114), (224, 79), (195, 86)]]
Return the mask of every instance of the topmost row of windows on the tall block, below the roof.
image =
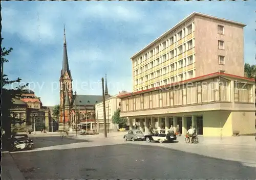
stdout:
[(192, 33), (192, 24), (189, 24), (186, 28), (180, 30), (177, 34), (173, 35), (172, 37), (168, 38), (164, 42), (157, 45), (155, 48), (151, 49), (145, 55), (141, 56), (137, 60), (134, 61), (134, 66), (142, 63), (143, 61), (147, 60), (148, 58), (156, 55), (157, 53), (161, 52), (166, 47), (174, 44), (175, 42), (179, 41), (180, 39), (184, 38), (185, 36)]

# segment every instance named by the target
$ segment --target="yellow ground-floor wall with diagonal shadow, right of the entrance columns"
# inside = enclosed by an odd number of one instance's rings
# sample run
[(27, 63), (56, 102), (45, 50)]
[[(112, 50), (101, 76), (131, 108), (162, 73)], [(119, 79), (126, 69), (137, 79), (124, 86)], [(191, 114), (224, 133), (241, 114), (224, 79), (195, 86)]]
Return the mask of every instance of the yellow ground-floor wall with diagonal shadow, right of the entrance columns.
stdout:
[(230, 111), (203, 113), (204, 136), (232, 136), (232, 116)]

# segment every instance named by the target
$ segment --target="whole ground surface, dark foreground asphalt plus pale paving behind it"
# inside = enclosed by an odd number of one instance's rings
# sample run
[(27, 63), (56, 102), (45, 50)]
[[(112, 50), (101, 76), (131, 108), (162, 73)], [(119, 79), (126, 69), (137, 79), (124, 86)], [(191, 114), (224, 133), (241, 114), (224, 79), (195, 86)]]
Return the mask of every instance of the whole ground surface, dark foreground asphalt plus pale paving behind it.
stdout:
[(123, 134), (33, 137), (34, 150), (11, 156), (26, 179), (256, 177), (255, 146), (185, 144), (184, 137), (176, 143), (132, 142)]

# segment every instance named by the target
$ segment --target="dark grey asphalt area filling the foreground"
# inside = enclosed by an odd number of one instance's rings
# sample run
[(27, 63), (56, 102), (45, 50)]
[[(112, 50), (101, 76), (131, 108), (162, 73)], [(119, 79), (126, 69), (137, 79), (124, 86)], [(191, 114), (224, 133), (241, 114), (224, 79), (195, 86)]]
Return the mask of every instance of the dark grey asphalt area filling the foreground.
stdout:
[(119, 144), (12, 153), (26, 179), (254, 179), (255, 168), (158, 146)]

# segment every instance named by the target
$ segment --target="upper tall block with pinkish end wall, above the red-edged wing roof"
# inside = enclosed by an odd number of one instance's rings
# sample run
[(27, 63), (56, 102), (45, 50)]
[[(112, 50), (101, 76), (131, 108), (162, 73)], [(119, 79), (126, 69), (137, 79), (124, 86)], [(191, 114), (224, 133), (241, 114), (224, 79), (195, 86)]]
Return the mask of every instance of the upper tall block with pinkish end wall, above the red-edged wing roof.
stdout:
[(194, 12), (132, 56), (133, 91), (209, 74), (244, 76), (245, 24)]

